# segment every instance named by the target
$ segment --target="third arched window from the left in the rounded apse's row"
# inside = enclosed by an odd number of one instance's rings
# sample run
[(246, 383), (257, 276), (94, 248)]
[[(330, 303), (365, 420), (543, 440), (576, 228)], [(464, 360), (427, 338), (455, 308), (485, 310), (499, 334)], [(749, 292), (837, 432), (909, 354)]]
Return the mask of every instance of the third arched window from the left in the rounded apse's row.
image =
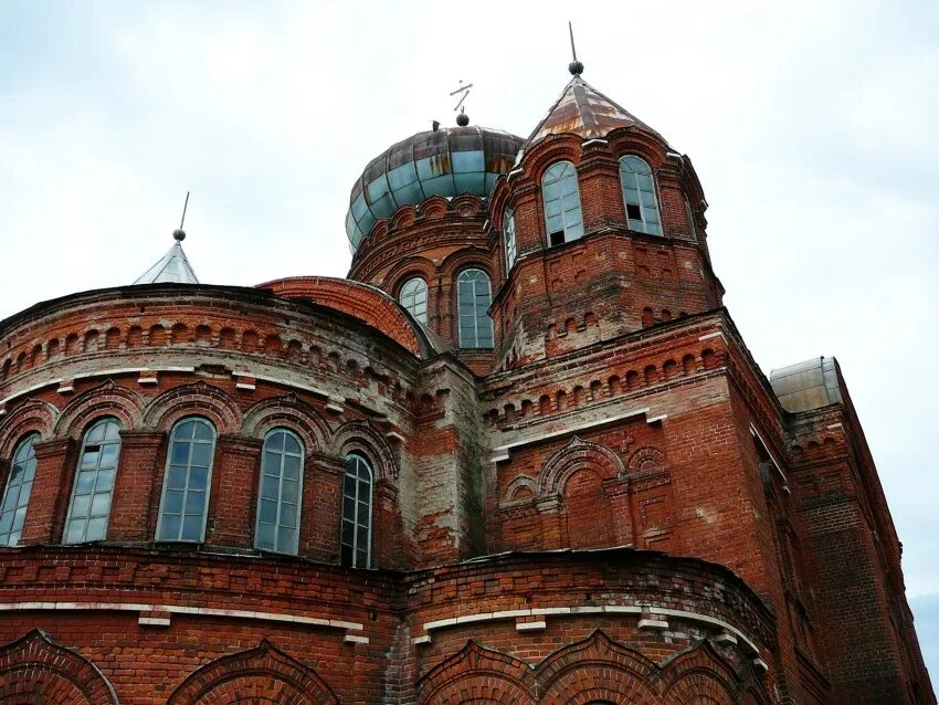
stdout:
[(157, 540), (201, 541), (205, 537), (214, 454), (215, 428), (205, 419), (190, 417), (172, 428)]

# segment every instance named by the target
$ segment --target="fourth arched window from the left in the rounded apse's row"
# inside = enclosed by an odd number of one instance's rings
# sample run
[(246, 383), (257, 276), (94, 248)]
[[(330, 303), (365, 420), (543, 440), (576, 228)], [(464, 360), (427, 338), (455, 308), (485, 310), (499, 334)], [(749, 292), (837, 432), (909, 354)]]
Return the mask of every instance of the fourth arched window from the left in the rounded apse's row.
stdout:
[(255, 548), (296, 554), (303, 488), (303, 442), (293, 431), (274, 429), (264, 439), (257, 493)]

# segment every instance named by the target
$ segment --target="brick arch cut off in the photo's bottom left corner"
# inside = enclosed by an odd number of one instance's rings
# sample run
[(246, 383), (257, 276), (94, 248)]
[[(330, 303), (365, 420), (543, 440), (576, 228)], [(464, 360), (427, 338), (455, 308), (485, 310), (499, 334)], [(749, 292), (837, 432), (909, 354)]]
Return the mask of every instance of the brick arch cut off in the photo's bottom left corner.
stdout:
[(117, 705), (114, 688), (97, 666), (34, 629), (0, 648), (0, 705)]

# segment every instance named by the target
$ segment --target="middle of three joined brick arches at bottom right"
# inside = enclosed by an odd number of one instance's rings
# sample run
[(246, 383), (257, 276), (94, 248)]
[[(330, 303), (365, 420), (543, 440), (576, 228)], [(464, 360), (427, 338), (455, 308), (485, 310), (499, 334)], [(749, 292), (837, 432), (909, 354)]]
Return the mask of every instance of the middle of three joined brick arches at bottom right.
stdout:
[(656, 676), (657, 667), (652, 661), (595, 630), (538, 664), (539, 702), (658, 705)]

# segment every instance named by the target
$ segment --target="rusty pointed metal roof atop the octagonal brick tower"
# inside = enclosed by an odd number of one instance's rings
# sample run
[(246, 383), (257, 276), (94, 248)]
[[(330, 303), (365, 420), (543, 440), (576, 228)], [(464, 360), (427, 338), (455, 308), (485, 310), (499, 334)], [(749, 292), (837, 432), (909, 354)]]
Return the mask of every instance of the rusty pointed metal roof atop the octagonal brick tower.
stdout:
[[(580, 76), (565, 86), (561, 97), (548, 111), (525, 143), (526, 148), (549, 135), (572, 133), (584, 139), (603, 137), (618, 127), (639, 125), (658, 135), (635, 115), (618, 105)], [(661, 135), (658, 135), (662, 137)]]

